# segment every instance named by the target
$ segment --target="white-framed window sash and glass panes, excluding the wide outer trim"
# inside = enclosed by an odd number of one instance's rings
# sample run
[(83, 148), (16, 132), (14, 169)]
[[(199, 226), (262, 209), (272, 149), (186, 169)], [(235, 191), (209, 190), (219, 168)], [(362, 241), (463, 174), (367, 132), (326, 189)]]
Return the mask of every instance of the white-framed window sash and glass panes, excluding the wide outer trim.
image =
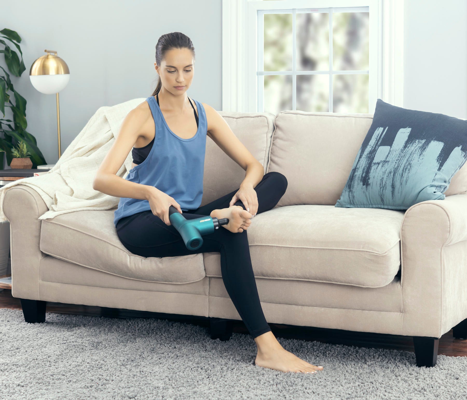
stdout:
[(368, 7), (260, 10), (258, 110), (368, 112), (368, 38)]

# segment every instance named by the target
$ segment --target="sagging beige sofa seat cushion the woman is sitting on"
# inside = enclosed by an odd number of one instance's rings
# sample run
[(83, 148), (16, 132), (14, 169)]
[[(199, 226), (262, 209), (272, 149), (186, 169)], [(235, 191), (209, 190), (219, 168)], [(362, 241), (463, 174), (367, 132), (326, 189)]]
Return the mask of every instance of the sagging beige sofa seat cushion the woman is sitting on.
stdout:
[(58, 259), (124, 278), (190, 283), (205, 277), (202, 253), (142, 257), (120, 242), (109, 210), (74, 211), (42, 219), (39, 247)]

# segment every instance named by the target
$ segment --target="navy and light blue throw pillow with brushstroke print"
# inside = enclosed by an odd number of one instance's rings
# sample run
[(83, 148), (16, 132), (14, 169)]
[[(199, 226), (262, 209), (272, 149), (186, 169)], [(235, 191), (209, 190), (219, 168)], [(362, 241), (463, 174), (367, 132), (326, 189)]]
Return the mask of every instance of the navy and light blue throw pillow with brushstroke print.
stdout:
[(444, 200), (467, 160), (467, 120), (376, 101), (373, 122), (335, 207), (407, 210)]

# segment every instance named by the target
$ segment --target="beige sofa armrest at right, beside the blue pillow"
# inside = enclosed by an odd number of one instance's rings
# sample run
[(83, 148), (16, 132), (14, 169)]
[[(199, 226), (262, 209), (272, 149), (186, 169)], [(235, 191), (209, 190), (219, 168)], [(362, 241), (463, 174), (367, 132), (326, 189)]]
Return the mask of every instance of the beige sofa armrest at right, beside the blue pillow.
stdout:
[(467, 194), (405, 211), (401, 263), (403, 335), (441, 337), (467, 318)]

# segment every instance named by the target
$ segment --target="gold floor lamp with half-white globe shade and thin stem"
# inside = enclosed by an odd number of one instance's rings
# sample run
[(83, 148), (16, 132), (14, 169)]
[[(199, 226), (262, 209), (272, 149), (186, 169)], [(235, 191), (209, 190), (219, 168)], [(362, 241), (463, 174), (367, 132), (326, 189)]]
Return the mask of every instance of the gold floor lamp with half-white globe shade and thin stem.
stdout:
[[(44, 50), (47, 54), (35, 60), (29, 70), (29, 79), (37, 91), (44, 94), (57, 94), (57, 130), (58, 158), (61, 157), (60, 147), (60, 107), (58, 92), (63, 90), (70, 80), (68, 65), (57, 56), (57, 51)], [(55, 53), (55, 54), (50, 54)]]

